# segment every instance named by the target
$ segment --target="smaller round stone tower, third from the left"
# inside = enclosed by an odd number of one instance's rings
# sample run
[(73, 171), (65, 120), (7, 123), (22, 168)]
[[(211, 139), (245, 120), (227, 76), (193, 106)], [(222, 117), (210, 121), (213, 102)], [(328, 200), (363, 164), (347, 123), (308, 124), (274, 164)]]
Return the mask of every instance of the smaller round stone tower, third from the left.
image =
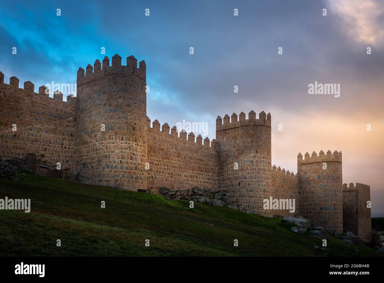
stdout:
[(343, 174), (341, 151), (327, 154), (307, 152), (297, 157), (299, 175), (299, 214), (311, 226), (343, 232)]

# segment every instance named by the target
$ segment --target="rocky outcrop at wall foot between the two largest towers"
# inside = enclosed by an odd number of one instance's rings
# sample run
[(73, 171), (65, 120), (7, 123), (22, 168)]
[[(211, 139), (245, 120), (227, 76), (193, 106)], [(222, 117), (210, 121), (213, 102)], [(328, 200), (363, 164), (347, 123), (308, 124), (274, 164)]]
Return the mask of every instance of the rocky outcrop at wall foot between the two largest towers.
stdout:
[(199, 187), (187, 190), (174, 190), (167, 187), (160, 187), (159, 194), (169, 198), (170, 200), (192, 200), (194, 202), (206, 203), (213, 206), (228, 206), (232, 209), (249, 213), (250, 210), (244, 206), (230, 201), (228, 196), (221, 191), (212, 191), (211, 189), (203, 189)]

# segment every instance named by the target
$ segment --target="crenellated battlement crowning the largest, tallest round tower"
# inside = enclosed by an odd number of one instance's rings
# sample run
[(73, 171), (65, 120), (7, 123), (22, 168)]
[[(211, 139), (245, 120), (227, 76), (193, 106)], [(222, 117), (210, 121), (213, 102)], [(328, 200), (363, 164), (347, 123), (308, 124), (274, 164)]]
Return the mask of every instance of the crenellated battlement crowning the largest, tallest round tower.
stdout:
[(139, 62), (139, 68), (137, 68), (137, 59), (134, 56), (128, 56), (126, 59), (126, 65), (121, 64), (121, 57), (115, 54), (112, 57), (112, 64), (109, 64), (110, 60), (107, 56), (104, 57), (103, 63), (99, 59), (96, 59), (93, 66), (88, 64), (86, 70), (79, 68), (77, 71), (77, 84), (79, 86), (84, 85), (95, 80), (99, 80), (103, 77), (112, 75), (126, 75), (140, 78), (146, 82), (146, 63), (144, 60)]

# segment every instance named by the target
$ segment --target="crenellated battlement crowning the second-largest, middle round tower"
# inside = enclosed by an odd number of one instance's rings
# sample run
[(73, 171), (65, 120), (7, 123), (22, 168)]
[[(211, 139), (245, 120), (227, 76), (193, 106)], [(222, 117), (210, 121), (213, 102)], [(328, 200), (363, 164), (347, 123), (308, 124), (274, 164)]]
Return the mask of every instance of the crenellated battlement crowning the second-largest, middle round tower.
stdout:
[(256, 119), (256, 112), (253, 110), (248, 113), (248, 119), (245, 118), (244, 112), (241, 112), (238, 116), (236, 113), (233, 113), (231, 117), (229, 117), (228, 114), (225, 114), (224, 118), (217, 116), (216, 132), (248, 125), (271, 127), (271, 113), (265, 114), (265, 112), (262, 111), (259, 113), (258, 119)]

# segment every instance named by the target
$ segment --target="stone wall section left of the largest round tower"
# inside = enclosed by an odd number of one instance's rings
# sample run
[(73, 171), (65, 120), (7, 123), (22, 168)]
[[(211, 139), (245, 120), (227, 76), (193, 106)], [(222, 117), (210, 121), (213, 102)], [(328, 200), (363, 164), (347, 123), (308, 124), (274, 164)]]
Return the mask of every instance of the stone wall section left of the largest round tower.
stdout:
[[(27, 81), (19, 88), (19, 80), (4, 83), (0, 72), (0, 148), (3, 158), (25, 158), (34, 153), (41, 165), (74, 170), (76, 168), (76, 98), (56, 92), (53, 98), (46, 87), (34, 92)], [(12, 131), (13, 124), (16, 131)]]

